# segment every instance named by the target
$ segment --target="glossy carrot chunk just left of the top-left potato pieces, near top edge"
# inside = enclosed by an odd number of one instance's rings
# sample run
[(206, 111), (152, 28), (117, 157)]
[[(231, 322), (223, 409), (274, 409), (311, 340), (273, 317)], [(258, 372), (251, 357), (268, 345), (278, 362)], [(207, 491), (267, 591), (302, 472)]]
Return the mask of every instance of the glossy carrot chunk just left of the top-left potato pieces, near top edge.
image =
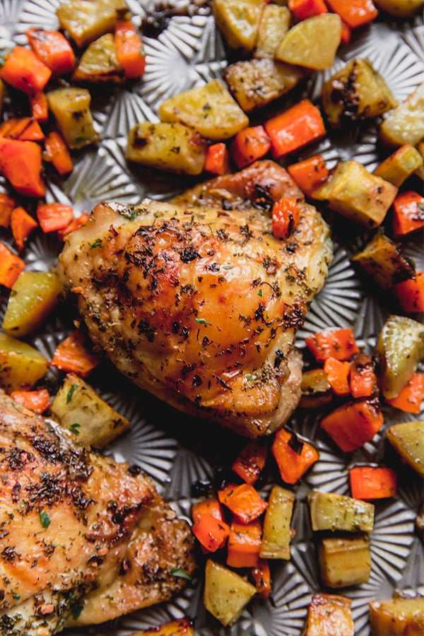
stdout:
[(75, 54), (62, 33), (32, 27), (26, 35), (30, 47), (52, 73), (66, 75), (75, 69)]

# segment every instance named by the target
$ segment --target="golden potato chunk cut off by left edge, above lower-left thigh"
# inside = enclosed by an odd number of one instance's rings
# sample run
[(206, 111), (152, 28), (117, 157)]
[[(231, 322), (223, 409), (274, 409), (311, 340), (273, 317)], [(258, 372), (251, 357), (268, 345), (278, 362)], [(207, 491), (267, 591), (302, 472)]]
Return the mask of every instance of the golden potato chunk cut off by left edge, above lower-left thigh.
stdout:
[(0, 334), (0, 387), (6, 393), (31, 389), (47, 372), (48, 363), (35, 347)]

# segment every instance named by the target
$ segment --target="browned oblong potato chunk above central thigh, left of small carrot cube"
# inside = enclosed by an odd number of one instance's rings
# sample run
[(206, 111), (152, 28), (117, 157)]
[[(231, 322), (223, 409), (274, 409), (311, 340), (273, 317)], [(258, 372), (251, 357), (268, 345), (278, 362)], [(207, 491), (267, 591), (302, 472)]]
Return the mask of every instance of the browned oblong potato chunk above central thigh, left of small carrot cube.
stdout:
[(125, 157), (158, 170), (200, 175), (207, 148), (206, 140), (189, 126), (142, 122), (129, 131)]

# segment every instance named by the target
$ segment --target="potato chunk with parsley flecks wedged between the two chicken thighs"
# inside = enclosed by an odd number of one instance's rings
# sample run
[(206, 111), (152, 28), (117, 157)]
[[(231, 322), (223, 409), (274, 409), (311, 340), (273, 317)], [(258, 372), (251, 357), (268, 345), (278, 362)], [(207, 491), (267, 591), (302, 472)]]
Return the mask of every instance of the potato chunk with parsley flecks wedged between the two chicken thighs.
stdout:
[(103, 448), (131, 428), (129, 420), (109, 406), (89, 384), (73, 373), (52, 401), (52, 414), (83, 446)]

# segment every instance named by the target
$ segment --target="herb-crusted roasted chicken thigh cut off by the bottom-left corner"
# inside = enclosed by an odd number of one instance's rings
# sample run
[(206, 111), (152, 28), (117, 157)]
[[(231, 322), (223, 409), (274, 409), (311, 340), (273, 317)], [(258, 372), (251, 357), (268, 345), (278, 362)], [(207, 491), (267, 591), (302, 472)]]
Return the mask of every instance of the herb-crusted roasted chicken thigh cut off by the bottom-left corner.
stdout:
[(189, 526), (127, 464), (0, 396), (0, 634), (48, 636), (179, 591)]

